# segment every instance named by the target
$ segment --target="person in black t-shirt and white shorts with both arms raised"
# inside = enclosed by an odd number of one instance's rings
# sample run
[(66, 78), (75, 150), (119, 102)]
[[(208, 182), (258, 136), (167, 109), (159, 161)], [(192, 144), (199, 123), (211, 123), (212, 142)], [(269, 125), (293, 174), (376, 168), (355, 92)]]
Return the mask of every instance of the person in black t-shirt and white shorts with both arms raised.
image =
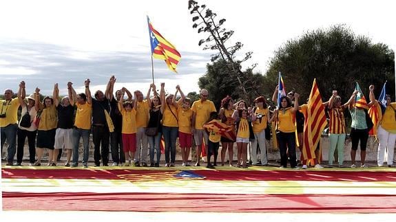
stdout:
[(56, 83), (54, 87), (54, 104), (58, 111), (58, 126), (55, 134), (54, 159), (52, 166), (56, 166), (59, 160), (58, 153), (65, 148), (67, 159), (65, 166), (70, 166), (70, 158), (73, 149), (73, 123), (74, 123), (74, 100), (72, 96), (72, 82), (67, 82), (67, 91), (69, 96), (62, 98), (59, 103), (59, 88)]

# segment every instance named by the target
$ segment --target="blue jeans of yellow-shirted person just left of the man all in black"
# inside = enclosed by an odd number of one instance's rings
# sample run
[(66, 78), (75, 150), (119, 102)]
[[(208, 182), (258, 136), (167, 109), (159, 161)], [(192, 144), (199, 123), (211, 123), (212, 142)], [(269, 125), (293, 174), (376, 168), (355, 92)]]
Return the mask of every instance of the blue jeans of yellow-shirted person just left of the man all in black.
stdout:
[(79, 164), (79, 144), (80, 138), (83, 137), (83, 164), (87, 164), (90, 157), (90, 130), (89, 129), (73, 129), (73, 164)]

